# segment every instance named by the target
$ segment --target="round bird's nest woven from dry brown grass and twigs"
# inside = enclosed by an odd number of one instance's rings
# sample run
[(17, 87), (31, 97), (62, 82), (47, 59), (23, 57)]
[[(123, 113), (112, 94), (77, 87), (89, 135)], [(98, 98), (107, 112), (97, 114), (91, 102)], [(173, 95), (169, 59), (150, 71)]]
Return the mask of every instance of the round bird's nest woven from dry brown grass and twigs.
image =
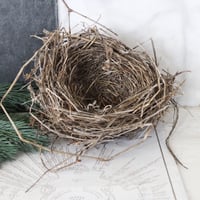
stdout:
[[(61, 138), (94, 145), (153, 127), (173, 101), (175, 75), (96, 28), (49, 32), (27, 76), (32, 116)], [(34, 87), (32, 87), (34, 86)], [(33, 89), (34, 88), (34, 89)]]

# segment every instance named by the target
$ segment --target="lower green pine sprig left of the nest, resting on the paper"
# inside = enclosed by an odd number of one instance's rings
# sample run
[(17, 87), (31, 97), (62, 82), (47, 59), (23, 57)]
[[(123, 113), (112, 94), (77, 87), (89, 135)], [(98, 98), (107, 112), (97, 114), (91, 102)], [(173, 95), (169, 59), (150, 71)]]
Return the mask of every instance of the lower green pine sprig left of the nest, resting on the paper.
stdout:
[[(41, 135), (38, 130), (30, 127), (27, 123), (28, 117), (28, 113), (23, 114), (23, 117), (20, 114), (19, 118), (18, 114), (15, 114), (13, 120), (24, 138), (47, 146), (49, 144), (48, 137), (46, 135)], [(0, 163), (6, 160), (15, 159), (21, 152), (31, 152), (36, 150), (35, 147), (23, 143), (18, 138), (10, 122), (5, 118), (6, 117), (3, 114), (0, 115)]]

